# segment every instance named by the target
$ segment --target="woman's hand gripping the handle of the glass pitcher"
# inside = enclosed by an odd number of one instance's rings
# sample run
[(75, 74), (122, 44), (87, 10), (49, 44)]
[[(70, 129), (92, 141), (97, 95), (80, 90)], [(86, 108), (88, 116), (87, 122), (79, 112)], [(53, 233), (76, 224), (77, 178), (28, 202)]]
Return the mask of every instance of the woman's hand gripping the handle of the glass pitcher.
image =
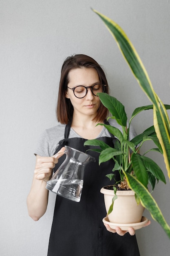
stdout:
[(50, 180), (53, 174), (52, 170), (55, 167), (55, 164), (57, 164), (58, 159), (64, 154), (64, 150), (65, 148), (63, 147), (52, 157), (37, 156), (34, 171), (35, 179), (44, 181)]

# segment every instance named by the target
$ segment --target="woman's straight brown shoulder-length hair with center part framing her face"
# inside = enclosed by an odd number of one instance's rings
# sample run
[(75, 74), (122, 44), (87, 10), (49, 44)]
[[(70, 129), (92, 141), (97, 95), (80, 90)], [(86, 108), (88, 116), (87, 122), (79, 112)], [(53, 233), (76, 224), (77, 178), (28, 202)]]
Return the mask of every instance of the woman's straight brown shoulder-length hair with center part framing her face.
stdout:
[[(66, 58), (66, 60), (62, 65), (62, 70), (61, 70), (60, 86), (59, 86), (58, 102), (57, 102), (57, 110), (56, 110), (57, 120), (61, 124), (68, 124), (68, 122), (71, 121), (73, 117), (73, 105), (71, 104), (70, 99), (67, 99), (65, 97), (67, 85), (69, 82), (68, 74), (71, 70), (76, 68), (82, 68), (82, 67), (94, 68), (97, 71), (100, 82), (106, 85), (104, 92), (108, 93), (109, 88), (108, 88), (106, 75), (102, 67), (93, 58), (84, 54), (75, 54), (73, 56)], [(104, 120), (106, 119), (107, 115), (108, 115), (108, 110), (101, 103), (94, 120), (95, 121)]]

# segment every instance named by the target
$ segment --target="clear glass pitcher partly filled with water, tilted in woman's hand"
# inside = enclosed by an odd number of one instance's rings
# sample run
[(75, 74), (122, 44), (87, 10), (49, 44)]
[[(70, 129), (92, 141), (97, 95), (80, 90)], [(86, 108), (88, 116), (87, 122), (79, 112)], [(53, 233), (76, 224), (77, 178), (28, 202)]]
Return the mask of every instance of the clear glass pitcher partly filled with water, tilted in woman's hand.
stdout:
[[(46, 184), (46, 189), (79, 202), (82, 195), (84, 168), (95, 158), (69, 146), (66, 149), (66, 159)], [(55, 155), (57, 157), (58, 154)]]

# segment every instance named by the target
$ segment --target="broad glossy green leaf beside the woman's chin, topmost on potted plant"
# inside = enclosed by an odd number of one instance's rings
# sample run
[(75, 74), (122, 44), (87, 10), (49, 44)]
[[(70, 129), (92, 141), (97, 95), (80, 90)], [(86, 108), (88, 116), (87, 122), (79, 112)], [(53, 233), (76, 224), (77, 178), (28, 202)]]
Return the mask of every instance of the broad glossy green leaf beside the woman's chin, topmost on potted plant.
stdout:
[(116, 119), (117, 123), (121, 126), (126, 126), (127, 115), (123, 104), (107, 93), (100, 92), (97, 95), (99, 96), (102, 104), (108, 108), (111, 115)]

